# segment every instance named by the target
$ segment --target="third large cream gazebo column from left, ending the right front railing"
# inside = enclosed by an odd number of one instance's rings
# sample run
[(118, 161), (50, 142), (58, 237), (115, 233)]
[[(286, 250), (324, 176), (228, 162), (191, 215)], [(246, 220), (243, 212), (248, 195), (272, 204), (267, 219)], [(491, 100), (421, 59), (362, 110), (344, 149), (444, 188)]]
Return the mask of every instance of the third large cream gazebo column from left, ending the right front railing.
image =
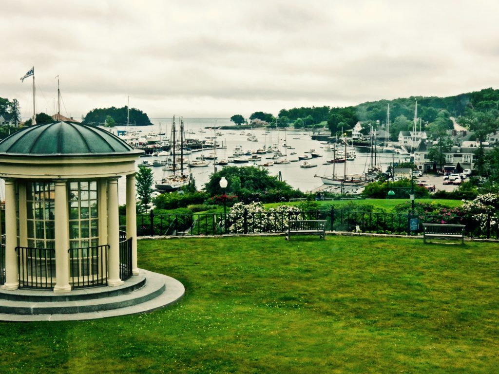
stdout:
[(124, 284), (120, 279), (120, 227), (118, 217), (118, 178), (107, 182), (107, 285), (116, 287)]

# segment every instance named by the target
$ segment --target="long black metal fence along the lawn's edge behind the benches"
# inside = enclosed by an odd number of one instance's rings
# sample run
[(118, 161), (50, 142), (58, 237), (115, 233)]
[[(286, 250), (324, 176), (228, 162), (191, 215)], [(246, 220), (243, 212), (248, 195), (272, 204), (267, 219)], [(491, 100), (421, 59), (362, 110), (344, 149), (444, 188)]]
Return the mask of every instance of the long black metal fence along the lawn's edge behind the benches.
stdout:
[(466, 235), (474, 238), (499, 238), (498, 219), (488, 216), (480, 221), (474, 216), (382, 213), (370, 211), (329, 210), (192, 213), (137, 215), (137, 235), (217, 235), (284, 232), (287, 221), (295, 219), (325, 219), (326, 230), (357, 231), (389, 234), (418, 234), (423, 223), (459, 223), (466, 225)]

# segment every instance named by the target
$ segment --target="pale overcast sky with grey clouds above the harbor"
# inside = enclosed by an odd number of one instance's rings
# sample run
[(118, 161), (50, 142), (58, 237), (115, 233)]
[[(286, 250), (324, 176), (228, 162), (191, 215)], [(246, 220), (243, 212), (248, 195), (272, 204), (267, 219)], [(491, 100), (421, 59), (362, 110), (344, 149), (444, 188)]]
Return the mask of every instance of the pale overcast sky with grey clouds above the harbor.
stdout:
[(23, 119), (277, 115), (498, 88), (494, 0), (0, 0), (0, 97)]

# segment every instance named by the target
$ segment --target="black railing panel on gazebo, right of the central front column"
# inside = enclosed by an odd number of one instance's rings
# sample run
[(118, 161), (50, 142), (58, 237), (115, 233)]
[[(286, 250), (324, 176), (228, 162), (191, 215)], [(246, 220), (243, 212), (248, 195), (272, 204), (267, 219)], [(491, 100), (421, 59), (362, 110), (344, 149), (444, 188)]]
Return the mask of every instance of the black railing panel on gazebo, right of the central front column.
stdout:
[(70, 248), (69, 282), (74, 288), (107, 284), (107, 252), (109, 245)]

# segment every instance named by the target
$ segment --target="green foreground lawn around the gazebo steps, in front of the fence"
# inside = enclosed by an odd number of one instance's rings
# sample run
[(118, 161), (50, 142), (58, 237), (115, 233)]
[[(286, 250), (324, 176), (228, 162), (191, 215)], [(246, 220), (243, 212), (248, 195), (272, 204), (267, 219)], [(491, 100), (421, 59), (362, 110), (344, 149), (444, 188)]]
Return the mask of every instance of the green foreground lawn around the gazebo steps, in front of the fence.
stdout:
[(0, 323), (0, 373), (492, 373), (496, 243), (282, 236), (139, 241), (186, 286), (137, 316)]

